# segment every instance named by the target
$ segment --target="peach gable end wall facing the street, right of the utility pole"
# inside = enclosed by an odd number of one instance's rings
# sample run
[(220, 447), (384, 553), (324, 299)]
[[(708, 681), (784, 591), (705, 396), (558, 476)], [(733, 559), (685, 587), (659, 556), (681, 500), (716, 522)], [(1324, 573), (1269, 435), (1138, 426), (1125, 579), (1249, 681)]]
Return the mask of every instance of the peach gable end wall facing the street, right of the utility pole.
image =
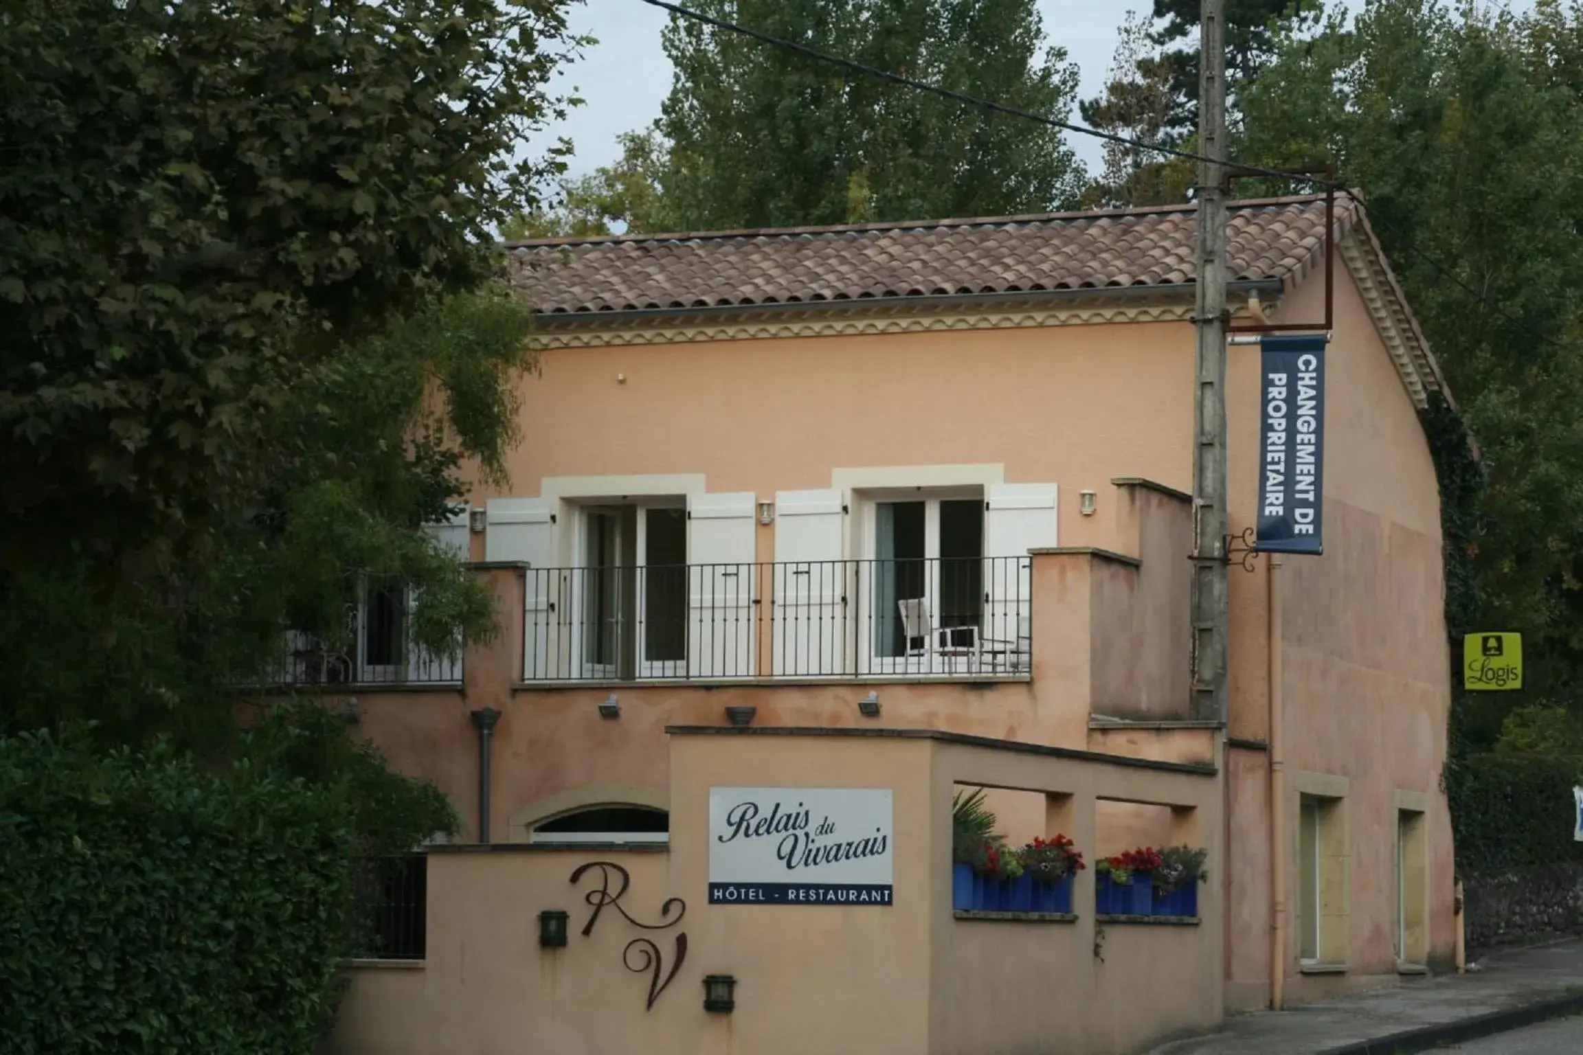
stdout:
[[(1277, 320), (1323, 318), (1314, 275)], [(1334, 338), (1327, 359), (1325, 554), (1282, 560), (1285, 772), (1349, 780), (1349, 971), (1300, 976), (1295, 860), (1287, 867), (1292, 1003), (1395, 979), (1395, 792), (1431, 805), (1429, 947), (1450, 957), (1452, 837), (1439, 773), (1445, 758), (1450, 664), (1444, 620), (1439, 487), (1417, 411), (1357, 286), (1338, 261)], [(1233, 528), (1257, 501), (1258, 350), (1232, 350)], [(1243, 516), (1238, 516), (1241, 512)], [(1260, 558), (1260, 565), (1265, 558)], [(1268, 735), (1268, 582), (1232, 569), (1232, 735)], [(1270, 977), (1268, 767), (1233, 751), (1232, 1009), (1263, 1006)], [(1289, 781), (1290, 785), (1290, 781)], [(1296, 792), (1285, 796), (1287, 830)], [(1290, 854), (1287, 854), (1290, 857)]]

